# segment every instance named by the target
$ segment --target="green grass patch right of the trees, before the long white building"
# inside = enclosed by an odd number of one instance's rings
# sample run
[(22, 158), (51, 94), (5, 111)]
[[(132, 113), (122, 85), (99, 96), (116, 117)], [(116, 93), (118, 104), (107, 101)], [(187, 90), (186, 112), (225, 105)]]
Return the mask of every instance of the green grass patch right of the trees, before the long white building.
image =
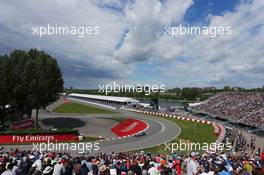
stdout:
[(74, 113), (74, 114), (115, 114), (116, 112), (107, 109), (96, 108), (80, 103), (65, 103), (56, 107), (53, 112), (56, 113)]

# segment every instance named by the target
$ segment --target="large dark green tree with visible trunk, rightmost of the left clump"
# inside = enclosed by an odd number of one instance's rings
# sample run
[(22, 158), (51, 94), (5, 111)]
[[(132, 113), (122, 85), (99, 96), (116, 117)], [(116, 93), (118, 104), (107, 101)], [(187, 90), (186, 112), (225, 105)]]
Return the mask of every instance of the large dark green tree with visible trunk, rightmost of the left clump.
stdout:
[(28, 104), (26, 111), (36, 109), (38, 126), (39, 109), (47, 107), (59, 98), (64, 82), (56, 59), (36, 49), (30, 50), (27, 54), (29, 61), (25, 65), (24, 77), (30, 78), (27, 80), (29, 92), (26, 98)]

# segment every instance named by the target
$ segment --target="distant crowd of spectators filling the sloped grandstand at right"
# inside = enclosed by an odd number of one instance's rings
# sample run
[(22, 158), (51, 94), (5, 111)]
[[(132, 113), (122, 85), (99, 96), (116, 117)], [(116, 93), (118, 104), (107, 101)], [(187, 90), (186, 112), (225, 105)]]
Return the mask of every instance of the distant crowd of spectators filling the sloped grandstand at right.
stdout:
[(261, 92), (219, 93), (194, 109), (233, 122), (264, 126), (264, 93)]

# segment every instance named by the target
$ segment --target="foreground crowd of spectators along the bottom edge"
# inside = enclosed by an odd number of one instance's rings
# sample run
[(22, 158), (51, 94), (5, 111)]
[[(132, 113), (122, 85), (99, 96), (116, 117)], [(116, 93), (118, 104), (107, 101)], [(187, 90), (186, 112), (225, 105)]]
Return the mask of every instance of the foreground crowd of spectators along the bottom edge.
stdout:
[[(242, 138), (242, 137), (241, 137)], [(240, 138), (237, 139), (240, 142)], [(236, 149), (241, 148), (236, 144)], [(186, 155), (69, 153), (0, 149), (1, 175), (264, 175), (264, 153)]]

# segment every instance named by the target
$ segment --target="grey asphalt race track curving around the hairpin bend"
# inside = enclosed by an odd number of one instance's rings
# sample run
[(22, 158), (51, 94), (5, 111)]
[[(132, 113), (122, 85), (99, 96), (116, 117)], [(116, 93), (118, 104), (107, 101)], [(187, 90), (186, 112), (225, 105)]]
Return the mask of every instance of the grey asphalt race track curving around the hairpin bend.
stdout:
[[(129, 112), (126, 110), (118, 110), (122, 115), (131, 116), (136, 119), (140, 119), (146, 123), (148, 123), (149, 128), (145, 131), (146, 135), (141, 137), (126, 137), (121, 139), (113, 139), (113, 140), (103, 140), (96, 141), (98, 142), (99, 150), (95, 151), (85, 151), (85, 154), (95, 154), (99, 152), (110, 153), (110, 152), (125, 152), (132, 150), (140, 150), (148, 147), (153, 147), (157, 145), (164, 144), (165, 142), (171, 141), (176, 138), (181, 129), (174, 122), (169, 120), (148, 116), (144, 114)], [(42, 111), (40, 112), (40, 118), (50, 118), (50, 117), (65, 117), (65, 115), (53, 114), (49, 112)], [(76, 118), (82, 118), (82, 116), (74, 115)], [(95, 142), (91, 142), (95, 143)], [(20, 150), (32, 150), (33, 145), (12, 145), (7, 146), (11, 148), (18, 148)], [(36, 149), (36, 148), (35, 148)], [(73, 155), (80, 155), (80, 150), (56, 150), (60, 152), (71, 152)]]

